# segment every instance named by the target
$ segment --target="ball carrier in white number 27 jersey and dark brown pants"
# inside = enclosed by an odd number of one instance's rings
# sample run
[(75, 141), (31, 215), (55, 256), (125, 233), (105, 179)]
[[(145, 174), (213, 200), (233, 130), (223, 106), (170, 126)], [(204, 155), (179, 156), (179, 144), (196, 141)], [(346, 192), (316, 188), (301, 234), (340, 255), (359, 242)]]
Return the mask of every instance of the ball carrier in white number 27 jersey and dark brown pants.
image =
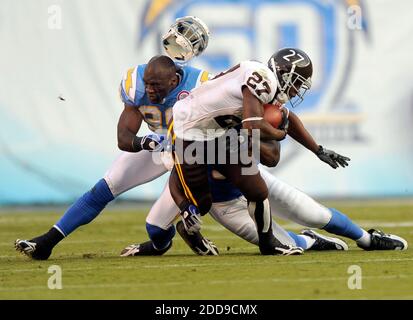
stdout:
[[(207, 155), (211, 149), (215, 150), (218, 155), (212, 163), (219, 163), (221, 173), (248, 200), (248, 211), (257, 227), (261, 254), (300, 254), (297, 247), (285, 245), (274, 237), (268, 189), (258, 169), (254, 168), (255, 159), (230, 161), (226, 138), (219, 139), (230, 128), (241, 124), (247, 132), (244, 143), (247, 151), (244, 150), (244, 154), (248, 154), (253, 134), (258, 134), (263, 140), (285, 138), (286, 130), (273, 128), (263, 119), (262, 105), (275, 100), (294, 103), (294, 97), (302, 101), (311, 86), (313, 68), (310, 58), (300, 49), (282, 49), (275, 56), (288, 63), (278, 63), (274, 56), (268, 67), (254, 61), (241, 62), (175, 103), (169, 129), (175, 147), (170, 191), (181, 211), (185, 229), (189, 233), (199, 231), (199, 216), (206, 214), (212, 206), (206, 161), (211, 161)], [(241, 150), (240, 146), (239, 157), (242, 157)], [(224, 153), (224, 162), (220, 162), (219, 153)], [(248, 173), (245, 174), (247, 168)], [(178, 179), (172, 178), (174, 176)]]

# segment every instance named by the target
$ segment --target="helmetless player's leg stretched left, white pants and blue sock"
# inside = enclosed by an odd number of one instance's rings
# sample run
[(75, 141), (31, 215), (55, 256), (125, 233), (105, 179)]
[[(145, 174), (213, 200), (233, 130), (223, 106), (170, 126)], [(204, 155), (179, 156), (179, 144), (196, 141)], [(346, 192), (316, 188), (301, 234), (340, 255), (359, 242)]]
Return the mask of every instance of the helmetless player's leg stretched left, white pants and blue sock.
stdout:
[(154, 180), (167, 170), (156, 158), (159, 154), (122, 152), (105, 177), (77, 199), (45, 234), (31, 240), (16, 240), (16, 249), (34, 259), (47, 259), (54, 246), (82, 225), (90, 223), (121, 193)]

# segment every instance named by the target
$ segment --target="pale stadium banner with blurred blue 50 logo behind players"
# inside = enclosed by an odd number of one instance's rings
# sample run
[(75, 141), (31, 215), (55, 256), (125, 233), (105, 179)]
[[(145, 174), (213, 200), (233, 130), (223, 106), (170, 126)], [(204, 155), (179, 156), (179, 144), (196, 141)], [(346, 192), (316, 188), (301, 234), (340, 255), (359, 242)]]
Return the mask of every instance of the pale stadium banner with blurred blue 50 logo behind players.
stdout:
[[(69, 202), (103, 177), (119, 154), (121, 77), (162, 53), (161, 35), (184, 15), (210, 27), (191, 64), (211, 73), (286, 46), (312, 58), (311, 92), (293, 111), (350, 166), (333, 170), (289, 138), (274, 175), (317, 197), (412, 196), (409, 9), (408, 0), (3, 0), (0, 204)], [(122, 197), (155, 199), (166, 179)]]

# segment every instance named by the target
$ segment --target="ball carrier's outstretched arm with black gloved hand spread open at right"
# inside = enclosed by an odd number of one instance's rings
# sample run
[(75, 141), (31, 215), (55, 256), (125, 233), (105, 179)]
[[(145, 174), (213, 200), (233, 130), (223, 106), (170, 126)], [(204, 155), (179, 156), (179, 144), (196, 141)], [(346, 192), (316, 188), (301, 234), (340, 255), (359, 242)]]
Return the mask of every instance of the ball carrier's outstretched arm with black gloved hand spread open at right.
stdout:
[(300, 118), (294, 112), (290, 111), (288, 120), (288, 135), (307, 149), (314, 152), (321, 161), (327, 163), (333, 169), (338, 168), (339, 165), (343, 168), (348, 166), (347, 161), (350, 161), (350, 158), (335, 153), (334, 151), (327, 150), (317, 144), (313, 136), (307, 131)]

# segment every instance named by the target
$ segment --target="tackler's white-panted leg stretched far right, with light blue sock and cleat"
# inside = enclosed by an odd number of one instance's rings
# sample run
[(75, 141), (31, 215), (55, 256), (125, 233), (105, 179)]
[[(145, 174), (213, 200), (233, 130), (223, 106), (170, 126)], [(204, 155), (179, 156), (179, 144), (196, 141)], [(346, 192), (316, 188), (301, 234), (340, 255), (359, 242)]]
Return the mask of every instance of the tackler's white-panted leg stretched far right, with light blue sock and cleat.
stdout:
[[(367, 232), (337, 209), (326, 208), (304, 192), (277, 179), (262, 167), (260, 167), (260, 172), (269, 190), (269, 201), (274, 215), (306, 227), (324, 229), (327, 232), (350, 238), (366, 250), (407, 248), (407, 242), (404, 239), (375, 232), (375, 230)], [(307, 232), (308, 235), (310, 233), (317, 238), (321, 236), (315, 232)]]

